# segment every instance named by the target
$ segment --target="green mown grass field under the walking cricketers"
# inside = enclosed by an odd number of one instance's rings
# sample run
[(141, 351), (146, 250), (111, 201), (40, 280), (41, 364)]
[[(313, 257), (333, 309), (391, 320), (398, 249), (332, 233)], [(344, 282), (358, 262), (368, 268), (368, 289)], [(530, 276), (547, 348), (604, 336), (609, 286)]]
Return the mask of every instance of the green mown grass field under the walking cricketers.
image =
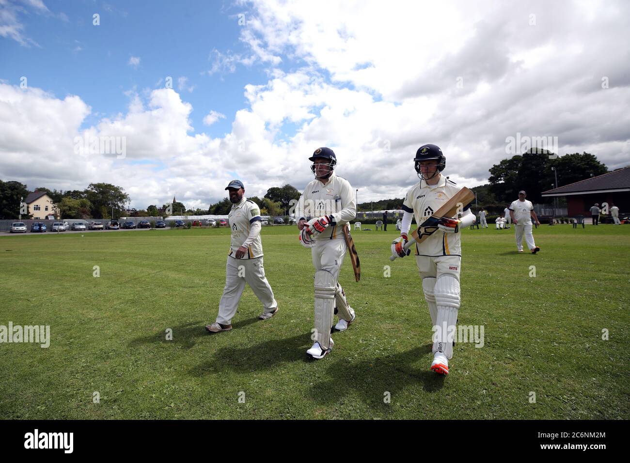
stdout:
[(357, 322), (307, 360), (314, 271), (296, 230), (263, 229), (277, 316), (258, 321), (247, 288), (214, 335), (227, 229), (0, 237), (0, 325), (52, 338), (0, 344), (0, 418), (630, 418), (630, 226), (543, 225), (537, 255), (513, 229), (465, 230), (459, 323), (485, 339), (458, 343), (446, 378), (429, 371), (415, 260), (388, 260), (395, 231), (354, 232), (362, 279), (346, 258), (340, 282)]

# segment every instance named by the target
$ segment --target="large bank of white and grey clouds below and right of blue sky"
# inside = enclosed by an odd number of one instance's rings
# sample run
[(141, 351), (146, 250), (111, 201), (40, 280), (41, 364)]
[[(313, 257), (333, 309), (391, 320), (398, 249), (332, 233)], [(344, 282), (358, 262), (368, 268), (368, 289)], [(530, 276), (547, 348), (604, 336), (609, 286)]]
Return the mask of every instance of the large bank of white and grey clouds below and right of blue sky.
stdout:
[(226, 117), (231, 132), (195, 132), (193, 105), (173, 89), (134, 88), (127, 111), (87, 130), (126, 137), (126, 159), (74, 155), (72, 139), (90, 111), (78, 96), (2, 85), (0, 171), (49, 188), (112, 181), (136, 207), (173, 195), (207, 207), (224, 197), (232, 173), (248, 195), (285, 183), (303, 188), (319, 146), (335, 149), (338, 173), (360, 188), (360, 201), (401, 197), (417, 181), (411, 159), (427, 142), (442, 147), (445, 174), (463, 186), (483, 183), (517, 132), (558, 136), (560, 154), (592, 152), (609, 168), (628, 163), (626, 4), (355, 7), (253, 3), (241, 35), (251, 53), (213, 50), (207, 71), (268, 67), (266, 83), (245, 86), (243, 108), (203, 118), (210, 125)]

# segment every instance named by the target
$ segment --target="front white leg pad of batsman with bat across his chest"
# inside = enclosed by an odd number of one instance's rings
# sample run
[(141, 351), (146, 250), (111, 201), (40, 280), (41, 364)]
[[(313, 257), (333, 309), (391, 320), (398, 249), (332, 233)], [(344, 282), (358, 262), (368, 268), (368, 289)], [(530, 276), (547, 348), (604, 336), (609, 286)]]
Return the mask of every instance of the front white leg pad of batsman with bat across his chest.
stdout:
[[(459, 311), (459, 281), (452, 275), (442, 275), (435, 282), (437, 323), (433, 327), (433, 353), (443, 352), (453, 357), (453, 341), (457, 334), (457, 311)], [(435, 328), (437, 326), (437, 328)]]

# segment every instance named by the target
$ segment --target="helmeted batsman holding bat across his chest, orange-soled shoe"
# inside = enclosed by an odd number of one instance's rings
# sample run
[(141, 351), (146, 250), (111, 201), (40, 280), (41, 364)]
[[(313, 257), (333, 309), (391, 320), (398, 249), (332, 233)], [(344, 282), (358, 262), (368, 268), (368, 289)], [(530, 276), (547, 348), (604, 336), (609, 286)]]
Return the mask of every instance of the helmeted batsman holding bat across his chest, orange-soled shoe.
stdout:
[[(453, 356), (457, 311), (459, 310), (459, 272), (461, 243), (459, 231), (476, 220), (470, 210), (474, 193), (459, 188), (441, 174), (446, 166), (442, 150), (432, 144), (421, 146), (413, 159), (420, 181), (407, 192), (403, 203), (400, 237), (392, 243), (392, 260), (415, 250), (433, 324), (433, 362), (431, 369), (449, 374)], [(418, 230), (408, 237), (411, 219)]]

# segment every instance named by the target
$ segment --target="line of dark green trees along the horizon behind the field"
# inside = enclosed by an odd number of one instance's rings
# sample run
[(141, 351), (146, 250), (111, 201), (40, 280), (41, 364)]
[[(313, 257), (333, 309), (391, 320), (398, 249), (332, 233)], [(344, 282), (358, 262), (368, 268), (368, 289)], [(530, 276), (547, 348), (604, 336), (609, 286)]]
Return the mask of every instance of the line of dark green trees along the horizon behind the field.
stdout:
[[(552, 169), (555, 168), (555, 171)], [(593, 154), (572, 153), (556, 156), (547, 151), (534, 149), (503, 159), (489, 170), (486, 185), (471, 188), (477, 195), (478, 209), (486, 209), (491, 214), (499, 214), (518, 198), (518, 191), (527, 191), (527, 199), (532, 203), (545, 202), (542, 192), (555, 188), (556, 174), (558, 186), (605, 174), (608, 168)], [(64, 219), (110, 219), (113, 217), (162, 216), (169, 215), (227, 215), (232, 207), (229, 198), (210, 204), (208, 209), (186, 209), (183, 203), (174, 202), (157, 206), (151, 204), (146, 209), (127, 209), (130, 197), (123, 188), (110, 183), (90, 183), (85, 190), (57, 191), (40, 187), (36, 191), (48, 193), (52, 202)], [(0, 180), (0, 218), (17, 219), (20, 214), (20, 198), (26, 198), (26, 185), (18, 181)], [(246, 191), (247, 195), (247, 191)], [(292, 185), (269, 188), (264, 197), (249, 197), (260, 207), (262, 215), (287, 215), (292, 200), (299, 199), (301, 193)], [(404, 198), (393, 198), (357, 205), (357, 210), (401, 209)], [(547, 199), (548, 201), (548, 199)], [(168, 212), (171, 212), (170, 214)], [(30, 214), (26, 214), (27, 216)], [(26, 217), (25, 217), (26, 218)]]

